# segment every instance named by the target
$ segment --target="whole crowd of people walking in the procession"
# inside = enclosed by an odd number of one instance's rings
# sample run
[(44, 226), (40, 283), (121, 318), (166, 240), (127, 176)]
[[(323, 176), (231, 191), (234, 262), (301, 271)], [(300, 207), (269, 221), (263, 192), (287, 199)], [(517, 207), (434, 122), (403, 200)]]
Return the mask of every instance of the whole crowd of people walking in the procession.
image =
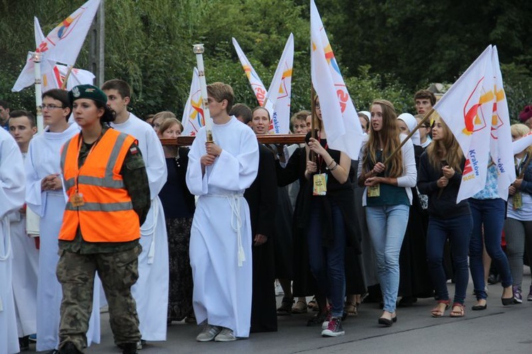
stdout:
[[(135, 116), (120, 79), (45, 92), (39, 134), (31, 112), (0, 101), (0, 353), (31, 340), (82, 353), (100, 341), (103, 306), (126, 354), (165, 341), (174, 321), (201, 325), (199, 342), (225, 342), (309, 309), (307, 326), (342, 336), (371, 301), (384, 327), (418, 298), (435, 299), (428, 316), (463, 317), (470, 273), (472, 310), (487, 309), (491, 262), (501, 303), (523, 302), (532, 148), (515, 155), (507, 201), (492, 163), (484, 189), (457, 204), (465, 157), (445, 121), (427, 118), (428, 90), (414, 95), (415, 116), (386, 99), (358, 113), (358, 161), (328, 146), (318, 96), (290, 121), (304, 143), (283, 145), (257, 142), (267, 109), (235, 104), (221, 82), (207, 94), (211, 132), (189, 147), (162, 145), (182, 122)], [(531, 132), (532, 106), (519, 120), (513, 140)]]

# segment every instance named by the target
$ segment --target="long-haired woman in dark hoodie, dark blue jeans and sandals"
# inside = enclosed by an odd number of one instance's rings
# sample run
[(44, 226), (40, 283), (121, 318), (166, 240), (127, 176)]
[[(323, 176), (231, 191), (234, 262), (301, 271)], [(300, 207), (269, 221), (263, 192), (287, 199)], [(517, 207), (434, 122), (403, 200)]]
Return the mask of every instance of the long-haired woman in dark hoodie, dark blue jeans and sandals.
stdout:
[(432, 139), (421, 155), (418, 170), (419, 192), (428, 195), (428, 270), (438, 296), (438, 304), (431, 314), (441, 317), (450, 306), (443, 270), (443, 249), (449, 238), (455, 267), (455, 298), (450, 316), (462, 317), (469, 281), (467, 252), (473, 227), (468, 201), (456, 203), (465, 159), (458, 141), (440, 117), (434, 120)]

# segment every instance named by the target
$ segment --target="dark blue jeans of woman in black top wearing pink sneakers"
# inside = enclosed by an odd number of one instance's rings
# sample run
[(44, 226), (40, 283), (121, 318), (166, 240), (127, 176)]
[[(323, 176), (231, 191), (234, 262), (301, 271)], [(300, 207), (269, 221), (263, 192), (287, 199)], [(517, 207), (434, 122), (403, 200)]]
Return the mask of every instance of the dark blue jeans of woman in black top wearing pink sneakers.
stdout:
[[(312, 199), (321, 197), (312, 197)], [(323, 216), (318, 201), (311, 201), (311, 211), (307, 240), (309, 242), (309, 260), (312, 275), (316, 278), (318, 292), (331, 301), (331, 316), (343, 315), (345, 297), (345, 223), (340, 207), (331, 202), (333, 240), (324, 246), (321, 224)], [(353, 215), (354, 217), (354, 215)]]

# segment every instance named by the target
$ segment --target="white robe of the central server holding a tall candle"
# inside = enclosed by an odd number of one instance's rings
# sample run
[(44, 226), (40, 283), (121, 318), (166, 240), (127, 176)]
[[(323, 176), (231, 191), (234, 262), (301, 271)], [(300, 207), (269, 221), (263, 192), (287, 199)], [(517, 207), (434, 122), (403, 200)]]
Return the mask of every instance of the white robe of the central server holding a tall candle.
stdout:
[[(190, 264), (196, 321), (231, 328), (248, 337), (251, 318), (251, 224), (243, 194), (257, 177), (259, 153), (253, 131), (231, 117), (214, 124), (215, 143), (223, 151), (201, 174), (206, 154), (204, 128), (189, 153), (187, 186), (199, 196), (192, 221)], [(240, 247), (241, 246), (241, 247)]]

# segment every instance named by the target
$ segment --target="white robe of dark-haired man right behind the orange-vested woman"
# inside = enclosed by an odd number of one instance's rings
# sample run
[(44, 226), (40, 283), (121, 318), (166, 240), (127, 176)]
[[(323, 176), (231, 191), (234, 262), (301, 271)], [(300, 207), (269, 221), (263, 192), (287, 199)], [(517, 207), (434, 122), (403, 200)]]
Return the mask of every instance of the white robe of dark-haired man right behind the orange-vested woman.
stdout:
[(151, 206), (140, 226), (142, 253), (138, 256), (138, 280), (131, 288), (137, 302), (140, 333), (144, 341), (166, 341), (168, 311), (168, 241), (165, 212), (158, 194), (166, 183), (165, 153), (150, 124), (130, 113), (124, 123), (111, 126), (138, 140), (150, 183)]

